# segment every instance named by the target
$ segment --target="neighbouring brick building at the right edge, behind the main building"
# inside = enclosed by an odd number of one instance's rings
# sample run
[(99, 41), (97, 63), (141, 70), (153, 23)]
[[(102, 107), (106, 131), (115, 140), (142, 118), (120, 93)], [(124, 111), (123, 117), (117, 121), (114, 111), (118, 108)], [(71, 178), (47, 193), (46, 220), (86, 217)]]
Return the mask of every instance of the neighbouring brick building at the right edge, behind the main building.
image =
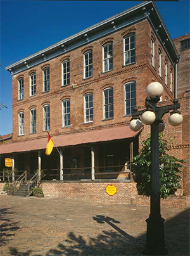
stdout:
[(190, 34), (174, 39), (175, 47), (180, 55), (177, 64), (177, 98), (190, 95)]

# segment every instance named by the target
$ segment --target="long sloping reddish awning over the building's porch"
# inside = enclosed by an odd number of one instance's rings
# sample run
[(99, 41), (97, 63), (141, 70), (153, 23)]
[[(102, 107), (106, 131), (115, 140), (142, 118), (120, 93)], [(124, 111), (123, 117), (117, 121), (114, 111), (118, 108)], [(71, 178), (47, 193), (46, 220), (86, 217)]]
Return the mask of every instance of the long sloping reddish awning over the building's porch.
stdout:
[[(129, 125), (106, 127), (104, 129), (75, 132), (52, 136), (57, 147), (74, 146), (78, 144), (98, 143), (101, 141), (115, 141), (118, 139), (133, 138), (138, 132), (130, 130)], [(30, 139), (16, 143), (2, 144), (0, 154), (43, 150), (46, 148), (47, 138)]]

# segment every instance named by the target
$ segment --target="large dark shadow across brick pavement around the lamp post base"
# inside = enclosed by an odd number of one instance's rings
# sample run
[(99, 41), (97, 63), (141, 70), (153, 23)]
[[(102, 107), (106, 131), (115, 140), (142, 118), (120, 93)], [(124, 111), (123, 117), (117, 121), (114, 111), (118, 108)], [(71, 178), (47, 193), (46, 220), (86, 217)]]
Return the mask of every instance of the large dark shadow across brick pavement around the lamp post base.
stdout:
[[(87, 238), (74, 233), (68, 233), (67, 239), (63, 243), (59, 243), (56, 248), (52, 248), (46, 254), (34, 254), (30, 250), (18, 252), (16, 248), (9, 248), (10, 255), (142, 255), (146, 243), (146, 233), (134, 238), (117, 227), (116, 224), (120, 222), (111, 217), (97, 215), (93, 219), (99, 224), (108, 223), (116, 231), (103, 231), (96, 238)], [(189, 255), (189, 209), (184, 210), (181, 214), (165, 222), (165, 242), (168, 248), (168, 255)]]

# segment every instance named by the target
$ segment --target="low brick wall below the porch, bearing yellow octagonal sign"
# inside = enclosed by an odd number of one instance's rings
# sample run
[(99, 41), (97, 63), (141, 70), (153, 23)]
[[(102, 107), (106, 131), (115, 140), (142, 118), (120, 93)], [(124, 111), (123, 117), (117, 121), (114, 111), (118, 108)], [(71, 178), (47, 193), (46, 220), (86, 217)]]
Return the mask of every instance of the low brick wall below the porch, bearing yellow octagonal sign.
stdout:
[[(115, 195), (106, 193), (108, 184), (117, 187)], [(147, 196), (137, 195), (135, 182), (42, 182), (41, 187), (45, 197), (149, 205)], [(161, 200), (162, 207), (187, 208), (189, 205), (190, 196), (169, 196)]]

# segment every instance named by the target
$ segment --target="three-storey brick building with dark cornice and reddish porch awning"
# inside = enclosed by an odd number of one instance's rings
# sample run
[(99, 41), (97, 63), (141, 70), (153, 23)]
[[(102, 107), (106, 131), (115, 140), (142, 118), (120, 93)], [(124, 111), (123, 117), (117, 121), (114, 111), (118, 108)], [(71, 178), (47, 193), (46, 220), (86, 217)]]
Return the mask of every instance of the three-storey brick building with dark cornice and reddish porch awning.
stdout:
[[(127, 186), (148, 132), (130, 131), (131, 112), (144, 106), (153, 81), (164, 88), (160, 104), (175, 98), (178, 61), (156, 4), (147, 1), (9, 65), (13, 143), (0, 146), (1, 167), (9, 157), (28, 179), (42, 169), (44, 179), (63, 184), (111, 179)], [(60, 154), (54, 148), (45, 155), (47, 131)], [(167, 124), (170, 132), (179, 132), (174, 144), (182, 144), (181, 126)]]

